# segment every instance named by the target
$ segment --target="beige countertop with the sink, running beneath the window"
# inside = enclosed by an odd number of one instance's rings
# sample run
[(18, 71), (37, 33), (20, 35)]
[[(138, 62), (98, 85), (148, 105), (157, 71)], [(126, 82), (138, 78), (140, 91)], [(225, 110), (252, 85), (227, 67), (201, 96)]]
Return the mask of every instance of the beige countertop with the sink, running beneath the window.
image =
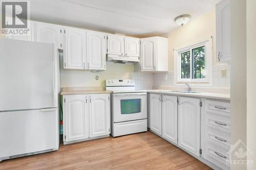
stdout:
[(226, 94), (226, 93), (206, 93), (206, 92), (181, 93), (181, 92), (173, 92), (172, 90), (161, 90), (161, 89), (147, 90), (147, 92), (230, 101), (230, 94)]

